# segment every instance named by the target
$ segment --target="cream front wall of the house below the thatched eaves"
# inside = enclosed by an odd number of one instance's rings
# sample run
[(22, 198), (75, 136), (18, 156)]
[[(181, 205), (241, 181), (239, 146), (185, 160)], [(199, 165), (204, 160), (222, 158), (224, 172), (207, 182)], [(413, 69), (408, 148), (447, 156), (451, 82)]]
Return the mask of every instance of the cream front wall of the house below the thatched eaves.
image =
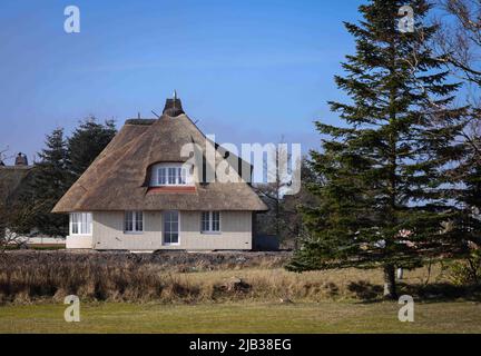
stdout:
[[(136, 234), (124, 233), (122, 211), (96, 211), (91, 246), (95, 249), (136, 251), (252, 249), (252, 211), (222, 211), (220, 233), (217, 234), (200, 233), (200, 211), (179, 211), (179, 244), (166, 246), (163, 243), (161, 211), (144, 211), (144, 233)], [(69, 237), (71, 240), (75, 238), (75, 236)]]

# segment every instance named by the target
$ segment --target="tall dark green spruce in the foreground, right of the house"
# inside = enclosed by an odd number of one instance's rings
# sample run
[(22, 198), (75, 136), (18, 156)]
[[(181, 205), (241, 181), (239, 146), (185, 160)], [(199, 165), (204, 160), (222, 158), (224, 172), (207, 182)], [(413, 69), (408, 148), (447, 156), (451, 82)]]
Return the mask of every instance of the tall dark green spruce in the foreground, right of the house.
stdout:
[[(411, 6), (414, 32), (399, 30), (399, 10)], [(355, 38), (337, 87), (351, 98), (330, 102), (342, 127), (316, 122), (322, 151), (312, 152), (318, 198), (304, 207), (306, 237), (287, 266), (383, 268), (384, 295), (396, 297), (396, 267), (462, 248), (459, 209), (449, 199), (445, 170), (462, 154), (454, 138), (464, 108), (452, 108), (458, 83), (430, 50), (424, 0), (371, 0), (360, 7)]]

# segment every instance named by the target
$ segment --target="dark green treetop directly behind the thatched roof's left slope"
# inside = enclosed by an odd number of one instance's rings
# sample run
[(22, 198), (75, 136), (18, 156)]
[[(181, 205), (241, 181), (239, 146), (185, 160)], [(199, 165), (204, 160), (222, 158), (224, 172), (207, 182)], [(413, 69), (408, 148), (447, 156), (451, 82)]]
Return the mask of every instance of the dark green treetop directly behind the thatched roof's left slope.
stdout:
[(73, 184), (106, 148), (117, 134), (115, 122), (97, 122), (95, 117), (87, 118), (68, 139), (69, 171)]

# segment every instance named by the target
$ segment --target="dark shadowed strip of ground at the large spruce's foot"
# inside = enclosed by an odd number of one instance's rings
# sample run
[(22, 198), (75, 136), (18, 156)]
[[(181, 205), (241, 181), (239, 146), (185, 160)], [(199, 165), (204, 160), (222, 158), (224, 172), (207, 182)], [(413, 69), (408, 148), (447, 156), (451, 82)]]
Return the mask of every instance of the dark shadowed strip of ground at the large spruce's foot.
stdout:
[[(347, 286), (349, 290), (354, 293), (361, 303), (384, 301), (382, 296), (383, 288), (380, 285), (373, 285), (365, 280), (353, 281)], [(433, 284), (414, 284), (408, 285), (400, 283), (397, 294), (410, 295), (415, 300), (423, 303), (439, 301), (479, 301), (481, 303), (481, 285), (474, 286), (455, 286), (448, 283)]]

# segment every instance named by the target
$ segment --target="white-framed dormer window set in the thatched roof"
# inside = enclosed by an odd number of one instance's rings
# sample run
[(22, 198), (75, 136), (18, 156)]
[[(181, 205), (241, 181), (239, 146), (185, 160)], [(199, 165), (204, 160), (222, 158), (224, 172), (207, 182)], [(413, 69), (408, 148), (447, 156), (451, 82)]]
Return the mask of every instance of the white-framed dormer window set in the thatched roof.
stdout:
[(184, 164), (157, 164), (151, 169), (151, 187), (192, 186), (192, 168)]

